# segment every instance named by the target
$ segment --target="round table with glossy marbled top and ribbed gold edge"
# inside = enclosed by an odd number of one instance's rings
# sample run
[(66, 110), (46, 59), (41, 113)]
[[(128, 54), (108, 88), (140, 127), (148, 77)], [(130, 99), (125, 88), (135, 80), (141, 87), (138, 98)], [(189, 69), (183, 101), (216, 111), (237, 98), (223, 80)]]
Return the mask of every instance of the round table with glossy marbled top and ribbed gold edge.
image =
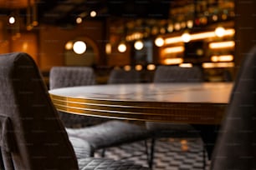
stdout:
[(136, 83), (50, 90), (63, 112), (120, 119), (216, 124), (221, 122), (233, 83)]

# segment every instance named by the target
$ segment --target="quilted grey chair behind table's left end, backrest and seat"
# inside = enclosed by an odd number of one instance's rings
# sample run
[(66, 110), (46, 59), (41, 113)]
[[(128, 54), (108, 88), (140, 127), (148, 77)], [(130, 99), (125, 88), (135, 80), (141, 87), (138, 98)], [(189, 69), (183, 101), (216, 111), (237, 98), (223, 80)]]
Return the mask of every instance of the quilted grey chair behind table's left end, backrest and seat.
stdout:
[[(134, 72), (131, 73), (133, 74)], [(114, 73), (112, 75), (115, 76), (116, 74)], [(121, 75), (123, 76), (124, 73), (121, 72)], [(128, 74), (126, 73), (125, 75)], [(115, 78), (113, 78), (113, 81), (114, 79)], [(50, 89), (54, 89), (55, 87), (92, 85), (93, 82), (95, 82), (94, 72), (90, 67), (53, 67), (49, 74)], [(86, 142), (90, 143), (92, 151), (102, 149), (101, 155), (103, 157), (105, 155), (105, 148), (144, 140), (150, 136), (150, 133), (145, 127), (103, 117), (79, 116), (80, 124), (86, 124), (87, 120), (91, 119), (94, 120), (91, 122), (97, 122), (98, 119), (100, 121), (94, 124), (90, 123), (90, 126), (74, 128), (74, 126), (72, 127), (70, 124), (76, 123), (76, 118), (73, 122), (73, 119), (70, 119), (69, 116), (74, 117), (78, 115), (73, 116), (72, 114), (64, 112), (61, 113), (63, 114), (63, 117), (66, 117), (65, 121), (69, 122), (69, 126), (66, 127), (69, 137), (84, 139)]]

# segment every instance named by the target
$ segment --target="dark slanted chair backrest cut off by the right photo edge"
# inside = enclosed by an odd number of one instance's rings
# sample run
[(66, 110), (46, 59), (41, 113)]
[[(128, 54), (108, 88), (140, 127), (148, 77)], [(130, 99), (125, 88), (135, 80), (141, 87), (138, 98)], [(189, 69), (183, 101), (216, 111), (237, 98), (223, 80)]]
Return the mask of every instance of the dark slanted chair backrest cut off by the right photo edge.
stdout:
[(235, 80), (212, 155), (212, 169), (256, 169), (256, 47)]

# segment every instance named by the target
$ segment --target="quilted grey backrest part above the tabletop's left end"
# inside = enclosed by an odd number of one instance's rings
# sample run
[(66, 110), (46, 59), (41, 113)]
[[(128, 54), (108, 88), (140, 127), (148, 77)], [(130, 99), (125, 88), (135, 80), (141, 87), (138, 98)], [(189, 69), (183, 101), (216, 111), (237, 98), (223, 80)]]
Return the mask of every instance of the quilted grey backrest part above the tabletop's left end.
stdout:
[(91, 67), (52, 67), (49, 72), (49, 88), (84, 86), (95, 84)]

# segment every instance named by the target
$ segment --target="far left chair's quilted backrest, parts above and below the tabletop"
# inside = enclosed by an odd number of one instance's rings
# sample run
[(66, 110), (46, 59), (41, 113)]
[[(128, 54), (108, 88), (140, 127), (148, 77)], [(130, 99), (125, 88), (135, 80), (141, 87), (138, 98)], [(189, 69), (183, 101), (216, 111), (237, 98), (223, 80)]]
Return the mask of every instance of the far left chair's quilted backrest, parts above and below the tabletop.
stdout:
[[(95, 84), (95, 73), (91, 67), (52, 67), (49, 72), (49, 89)], [(86, 117), (59, 112), (67, 128), (83, 128), (106, 122), (106, 118)]]

